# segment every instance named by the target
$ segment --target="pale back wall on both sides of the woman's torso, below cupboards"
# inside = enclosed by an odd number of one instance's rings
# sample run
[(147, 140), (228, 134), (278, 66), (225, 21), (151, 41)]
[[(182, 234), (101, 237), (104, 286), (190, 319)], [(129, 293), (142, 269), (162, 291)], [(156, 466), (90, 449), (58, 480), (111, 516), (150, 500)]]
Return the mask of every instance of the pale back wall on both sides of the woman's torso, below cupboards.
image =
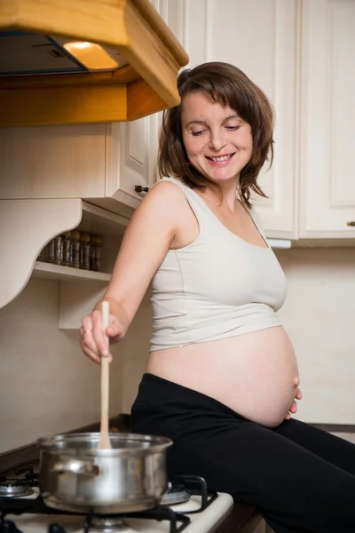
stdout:
[[(288, 277), (280, 318), (295, 345), (304, 400), (297, 418), (355, 424), (355, 249), (285, 250)], [(122, 409), (129, 412), (145, 370), (149, 301), (124, 342)]]

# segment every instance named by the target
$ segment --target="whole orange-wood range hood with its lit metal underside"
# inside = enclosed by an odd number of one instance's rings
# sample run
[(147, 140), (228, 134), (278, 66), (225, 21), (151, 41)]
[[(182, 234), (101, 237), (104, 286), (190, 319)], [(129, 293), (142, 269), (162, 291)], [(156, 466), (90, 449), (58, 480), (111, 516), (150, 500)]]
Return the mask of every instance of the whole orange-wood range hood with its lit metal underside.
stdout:
[(0, 0), (0, 125), (150, 115), (187, 62), (149, 0)]

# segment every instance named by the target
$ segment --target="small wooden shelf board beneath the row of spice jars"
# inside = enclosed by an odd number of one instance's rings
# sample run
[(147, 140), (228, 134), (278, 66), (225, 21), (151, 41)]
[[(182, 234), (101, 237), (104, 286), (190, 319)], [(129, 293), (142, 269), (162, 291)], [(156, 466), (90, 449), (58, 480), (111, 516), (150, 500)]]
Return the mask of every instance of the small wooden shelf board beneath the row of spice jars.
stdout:
[(91, 270), (81, 270), (80, 268), (60, 267), (59, 265), (36, 261), (31, 277), (52, 282), (94, 281), (107, 283), (111, 279), (111, 274), (91, 272)]

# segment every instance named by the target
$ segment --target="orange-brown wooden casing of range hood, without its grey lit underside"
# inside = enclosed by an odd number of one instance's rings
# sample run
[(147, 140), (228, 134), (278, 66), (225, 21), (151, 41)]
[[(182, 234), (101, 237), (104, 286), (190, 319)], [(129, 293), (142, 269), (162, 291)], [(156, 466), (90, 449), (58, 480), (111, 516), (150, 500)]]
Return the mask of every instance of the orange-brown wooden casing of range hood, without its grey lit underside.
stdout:
[(0, 30), (30, 31), (116, 49), (114, 72), (2, 76), (0, 125), (130, 121), (180, 102), (188, 55), (149, 0), (0, 0)]

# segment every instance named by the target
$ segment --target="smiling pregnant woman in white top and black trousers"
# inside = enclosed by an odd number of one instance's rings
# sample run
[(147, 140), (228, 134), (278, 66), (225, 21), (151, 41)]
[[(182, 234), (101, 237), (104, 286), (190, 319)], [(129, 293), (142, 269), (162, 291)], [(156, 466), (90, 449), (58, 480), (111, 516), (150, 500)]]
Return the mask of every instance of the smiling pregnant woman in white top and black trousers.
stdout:
[[(276, 314), (286, 281), (251, 205), (272, 163), (272, 106), (226, 63), (187, 69), (177, 85), (181, 103), (162, 124), (163, 178), (134, 213), (104, 296), (117, 342), (153, 280), (133, 431), (170, 437), (170, 475), (201, 475), (256, 505), (275, 533), (351, 531), (355, 446), (290, 418), (302, 394)], [(99, 309), (81, 329), (95, 362), (111, 358)]]

